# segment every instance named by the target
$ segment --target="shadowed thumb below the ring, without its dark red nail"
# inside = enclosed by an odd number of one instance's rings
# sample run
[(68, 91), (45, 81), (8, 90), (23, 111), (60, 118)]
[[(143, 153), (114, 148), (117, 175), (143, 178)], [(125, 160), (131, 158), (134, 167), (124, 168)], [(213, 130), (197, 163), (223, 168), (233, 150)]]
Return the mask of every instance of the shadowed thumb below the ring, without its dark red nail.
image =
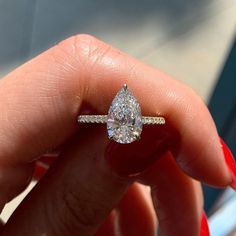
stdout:
[(117, 206), (134, 177), (119, 177), (108, 165), (104, 154), (110, 141), (103, 126), (85, 131), (15, 211), (3, 235), (93, 235)]

